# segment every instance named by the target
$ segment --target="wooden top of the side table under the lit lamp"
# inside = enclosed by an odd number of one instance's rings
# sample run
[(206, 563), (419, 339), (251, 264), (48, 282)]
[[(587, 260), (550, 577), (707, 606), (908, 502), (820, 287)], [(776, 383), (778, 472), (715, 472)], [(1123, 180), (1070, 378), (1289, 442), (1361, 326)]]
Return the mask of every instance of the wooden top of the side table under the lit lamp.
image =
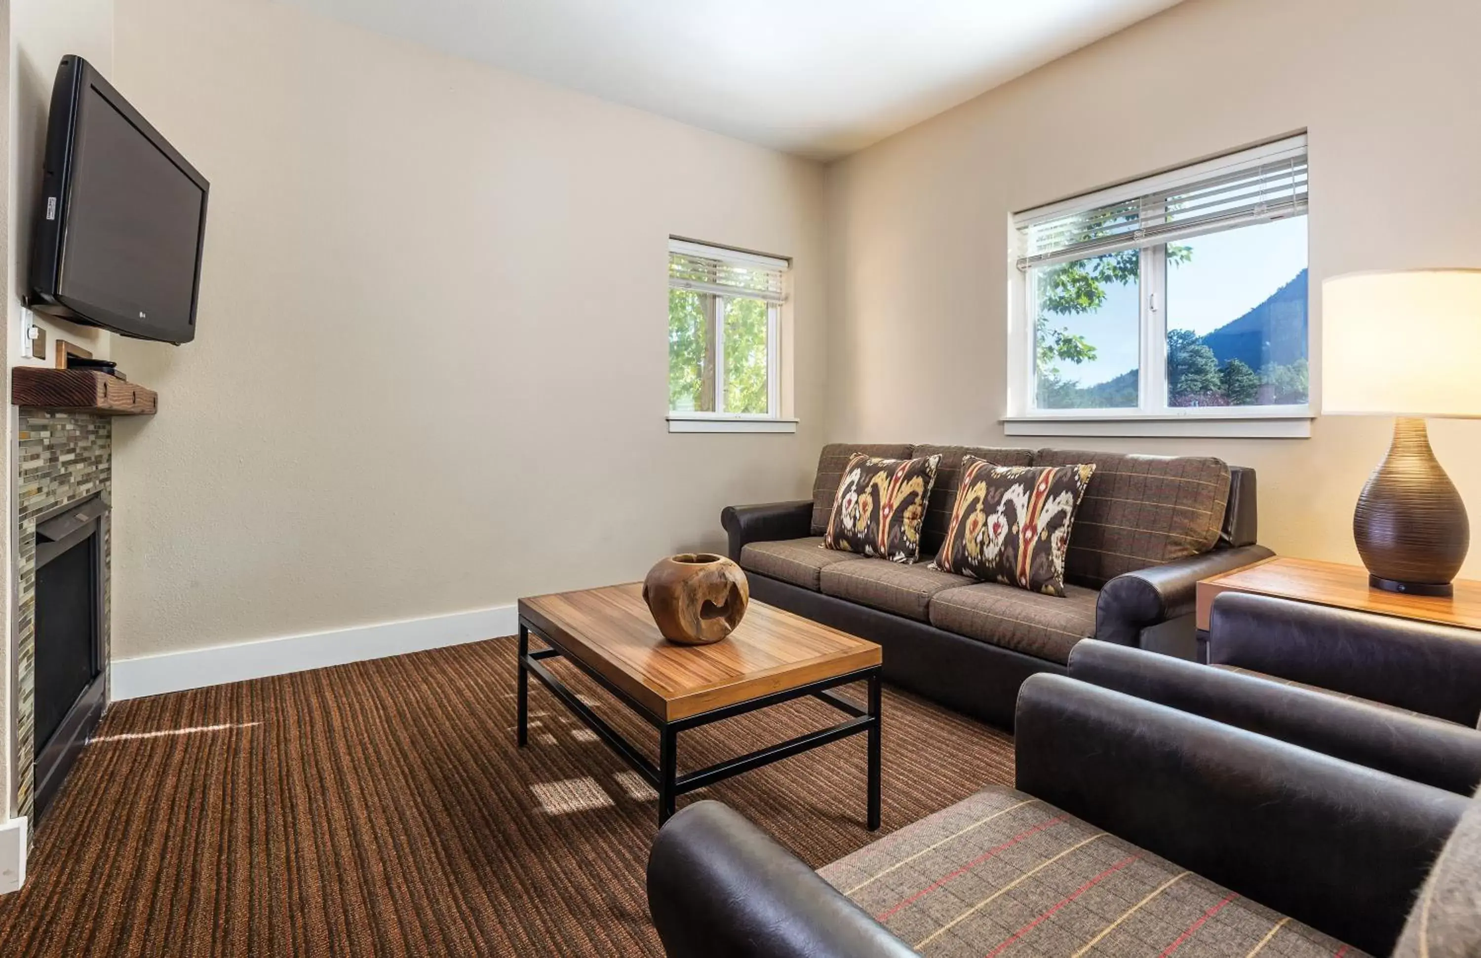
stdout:
[(1385, 592), (1368, 585), (1368, 570), (1361, 566), (1277, 555), (1200, 582), (1195, 622), (1207, 631), (1214, 597), (1237, 591), (1481, 629), (1481, 582), (1456, 579), (1454, 585), (1448, 598)]

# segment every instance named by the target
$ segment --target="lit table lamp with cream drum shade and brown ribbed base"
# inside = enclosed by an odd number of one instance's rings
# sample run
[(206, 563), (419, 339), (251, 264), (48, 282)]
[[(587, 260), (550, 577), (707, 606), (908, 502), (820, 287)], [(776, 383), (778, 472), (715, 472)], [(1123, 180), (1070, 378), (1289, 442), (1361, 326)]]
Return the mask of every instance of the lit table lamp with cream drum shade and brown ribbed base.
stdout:
[(1373, 588), (1451, 595), (1466, 506), (1425, 419), (1481, 418), (1481, 269), (1354, 272), (1321, 284), (1321, 412), (1397, 416), (1352, 537)]

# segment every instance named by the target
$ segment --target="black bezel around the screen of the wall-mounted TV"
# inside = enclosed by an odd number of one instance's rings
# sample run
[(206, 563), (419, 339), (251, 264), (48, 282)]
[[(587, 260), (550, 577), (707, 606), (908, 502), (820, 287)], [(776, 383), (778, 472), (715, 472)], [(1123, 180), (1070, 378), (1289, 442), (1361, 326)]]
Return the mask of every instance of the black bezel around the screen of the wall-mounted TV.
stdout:
[[(163, 153), (201, 191), (200, 230), (195, 240), (195, 274), (191, 277), (191, 301), (188, 335), (181, 336), (175, 326), (154, 326), (139, 321), (135, 315), (123, 315), (77, 299), (64, 296), (64, 272), (67, 269), (67, 230), (71, 218), (73, 158), (77, 144), (77, 111), (83, 92), (93, 89), (117, 110), (145, 139)], [(56, 198), (55, 218), (47, 219), (47, 201)], [(200, 302), (200, 264), (206, 250), (206, 207), (210, 200), (210, 182), (200, 170), (181, 155), (154, 126), (86, 59), (77, 55), (64, 56), (56, 68), (56, 83), (52, 87), (52, 114), (46, 129), (46, 166), (41, 176), (41, 192), (37, 197), (36, 230), (31, 240), (31, 281), (27, 305), (37, 312), (55, 315), (71, 323), (98, 326), (121, 336), (153, 339), (179, 345), (195, 338), (195, 308)]]

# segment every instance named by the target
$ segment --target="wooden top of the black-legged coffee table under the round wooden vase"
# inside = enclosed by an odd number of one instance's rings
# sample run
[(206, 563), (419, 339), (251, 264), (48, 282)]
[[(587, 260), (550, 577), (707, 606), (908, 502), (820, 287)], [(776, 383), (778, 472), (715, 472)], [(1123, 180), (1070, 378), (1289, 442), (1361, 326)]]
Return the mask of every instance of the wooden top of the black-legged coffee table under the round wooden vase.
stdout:
[(883, 662), (874, 643), (754, 600), (729, 637), (678, 646), (659, 634), (637, 582), (521, 598), (520, 617), (666, 721)]

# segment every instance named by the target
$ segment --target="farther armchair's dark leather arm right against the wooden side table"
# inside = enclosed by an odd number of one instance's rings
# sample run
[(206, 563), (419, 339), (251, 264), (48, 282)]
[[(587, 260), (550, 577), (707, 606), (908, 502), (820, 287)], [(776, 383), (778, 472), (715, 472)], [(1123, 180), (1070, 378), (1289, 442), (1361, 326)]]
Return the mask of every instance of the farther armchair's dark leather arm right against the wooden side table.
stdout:
[(1213, 603), (1208, 662), (1385, 702), (1463, 726), (1481, 717), (1481, 641), (1469, 629), (1269, 595)]

